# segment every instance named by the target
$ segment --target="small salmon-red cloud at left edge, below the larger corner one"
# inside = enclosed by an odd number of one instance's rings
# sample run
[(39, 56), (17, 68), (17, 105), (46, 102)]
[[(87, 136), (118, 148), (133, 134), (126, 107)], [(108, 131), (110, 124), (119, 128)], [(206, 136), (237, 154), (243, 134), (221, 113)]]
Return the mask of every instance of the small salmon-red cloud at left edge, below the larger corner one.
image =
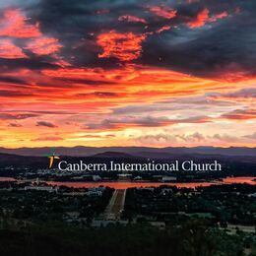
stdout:
[(0, 58), (3, 59), (21, 59), (27, 58), (22, 49), (16, 46), (10, 39), (0, 40)]

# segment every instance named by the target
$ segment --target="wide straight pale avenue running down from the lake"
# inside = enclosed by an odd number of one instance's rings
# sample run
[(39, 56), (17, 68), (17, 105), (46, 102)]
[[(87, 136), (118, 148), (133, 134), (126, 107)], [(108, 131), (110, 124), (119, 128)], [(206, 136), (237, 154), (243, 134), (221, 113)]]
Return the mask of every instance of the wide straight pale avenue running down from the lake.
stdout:
[(116, 189), (105, 209), (105, 220), (120, 220), (124, 208), (126, 189)]

